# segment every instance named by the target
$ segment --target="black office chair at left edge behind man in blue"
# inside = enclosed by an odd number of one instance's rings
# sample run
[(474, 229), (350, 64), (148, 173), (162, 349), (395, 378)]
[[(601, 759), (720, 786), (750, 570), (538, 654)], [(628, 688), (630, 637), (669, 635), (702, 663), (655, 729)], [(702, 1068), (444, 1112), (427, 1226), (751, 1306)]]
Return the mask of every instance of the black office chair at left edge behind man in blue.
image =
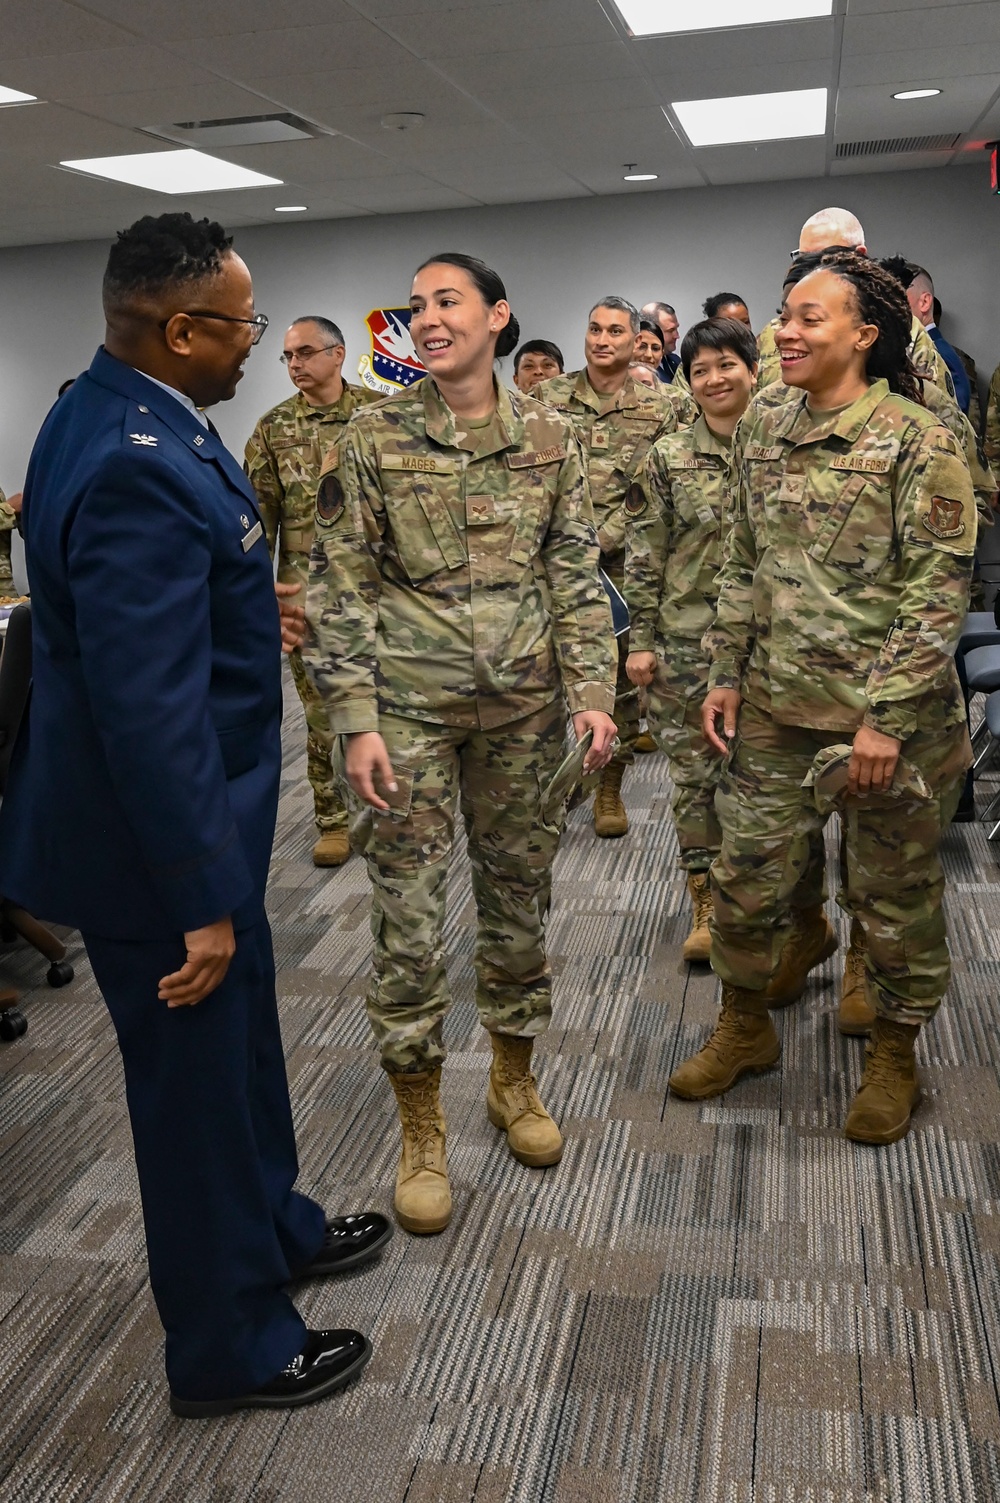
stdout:
[[(32, 691), (32, 607), (17, 606), (8, 621), (8, 633), (0, 655), (0, 794), (8, 783), (11, 753), (17, 741), (29, 694)], [(27, 939), (48, 960), (45, 980), (50, 986), (72, 981), (72, 966), (66, 960), (66, 945), (39, 924), (24, 908), (0, 896), (0, 939), (9, 944)], [(17, 992), (0, 989), (0, 1039), (8, 1043), (27, 1033), (24, 1013), (14, 1006)]]

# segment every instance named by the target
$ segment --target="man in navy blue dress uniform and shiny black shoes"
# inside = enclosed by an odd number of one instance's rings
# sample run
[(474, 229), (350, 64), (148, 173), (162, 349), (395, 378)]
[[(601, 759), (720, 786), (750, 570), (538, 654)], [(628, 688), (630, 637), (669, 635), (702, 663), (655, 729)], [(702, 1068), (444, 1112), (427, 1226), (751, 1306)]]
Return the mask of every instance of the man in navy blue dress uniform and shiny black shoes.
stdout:
[(370, 1345), (307, 1330), (286, 1284), (391, 1228), (293, 1190), (263, 899), (301, 612), (280, 622), (254, 493), (203, 412), (266, 319), (223, 228), (186, 213), (119, 234), (104, 307), (24, 487), (33, 693), (0, 890), (81, 930), (111, 1013), (174, 1413), (287, 1407)]

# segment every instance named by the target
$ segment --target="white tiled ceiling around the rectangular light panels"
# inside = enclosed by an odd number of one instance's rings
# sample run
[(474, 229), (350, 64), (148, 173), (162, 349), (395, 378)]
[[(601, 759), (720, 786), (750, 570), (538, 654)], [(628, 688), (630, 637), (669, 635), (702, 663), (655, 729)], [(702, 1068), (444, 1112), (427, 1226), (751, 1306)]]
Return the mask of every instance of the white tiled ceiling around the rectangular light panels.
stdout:
[[(693, 5), (698, 0), (692, 0)], [(968, 161), (1000, 135), (995, 0), (835, 0), (835, 15), (633, 41), (612, 0), (3, 0), (0, 245), (191, 209), (230, 227), (839, 176)], [(892, 92), (932, 84), (934, 99)], [(674, 99), (830, 89), (826, 138), (689, 147)], [(317, 140), (217, 150), (284, 179), (189, 198), (60, 171), (162, 150), (143, 129), (290, 111)], [(380, 117), (418, 111), (389, 132)], [(955, 132), (949, 152), (839, 143)], [(623, 182), (626, 162), (659, 180)]]

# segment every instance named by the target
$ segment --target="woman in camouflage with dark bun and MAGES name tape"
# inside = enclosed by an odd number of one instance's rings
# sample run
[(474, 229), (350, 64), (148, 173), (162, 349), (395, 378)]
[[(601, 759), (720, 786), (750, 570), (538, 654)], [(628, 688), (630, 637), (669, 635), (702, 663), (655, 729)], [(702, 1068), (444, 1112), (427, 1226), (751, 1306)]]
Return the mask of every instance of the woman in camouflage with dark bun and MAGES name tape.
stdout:
[(573, 430), (495, 376), (519, 334), (501, 278), (433, 256), (411, 313), (427, 377), (358, 412), (323, 466), (304, 658), (341, 738), (373, 887), (367, 1009), (403, 1130), (395, 1213), (438, 1232), (451, 1217), (439, 1081), (456, 815), (493, 1054), (486, 1108), (516, 1159), (555, 1163), (562, 1138), (531, 1051), (550, 1016), (567, 712), (580, 770), (605, 767), (617, 646)]

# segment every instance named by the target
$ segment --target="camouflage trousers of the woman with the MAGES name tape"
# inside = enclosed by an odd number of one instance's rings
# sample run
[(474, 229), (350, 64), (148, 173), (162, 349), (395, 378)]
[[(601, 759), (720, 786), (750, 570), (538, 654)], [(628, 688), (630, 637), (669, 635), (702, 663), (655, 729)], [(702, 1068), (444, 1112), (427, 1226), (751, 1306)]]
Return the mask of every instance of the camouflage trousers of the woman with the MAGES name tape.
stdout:
[(383, 1067), (429, 1070), (445, 1057), (444, 926), (459, 807), (477, 908), (480, 1022), (490, 1033), (544, 1033), (552, 1016), (544, 920), (562, 809), (544, 810), (543, 795), (565, 755), (562, 700), (492, 730), (402, 715), (380, 715), (379, 730), (402, 804), (380, 813), (349, 794), (349, 806), (352, 845), (373, 887), (367, 1010)]

